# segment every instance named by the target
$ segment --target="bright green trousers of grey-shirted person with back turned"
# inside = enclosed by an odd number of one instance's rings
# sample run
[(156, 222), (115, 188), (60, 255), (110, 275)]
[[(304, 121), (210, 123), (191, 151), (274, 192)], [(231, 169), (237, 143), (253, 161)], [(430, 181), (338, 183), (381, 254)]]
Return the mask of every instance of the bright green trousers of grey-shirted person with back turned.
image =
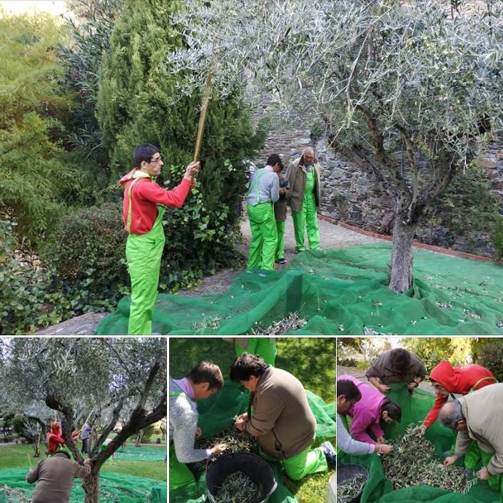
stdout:
[(248, 251), (247, 270), (273, 270), (278, 230), (272, 203), (246, 205), (252, 240)]

